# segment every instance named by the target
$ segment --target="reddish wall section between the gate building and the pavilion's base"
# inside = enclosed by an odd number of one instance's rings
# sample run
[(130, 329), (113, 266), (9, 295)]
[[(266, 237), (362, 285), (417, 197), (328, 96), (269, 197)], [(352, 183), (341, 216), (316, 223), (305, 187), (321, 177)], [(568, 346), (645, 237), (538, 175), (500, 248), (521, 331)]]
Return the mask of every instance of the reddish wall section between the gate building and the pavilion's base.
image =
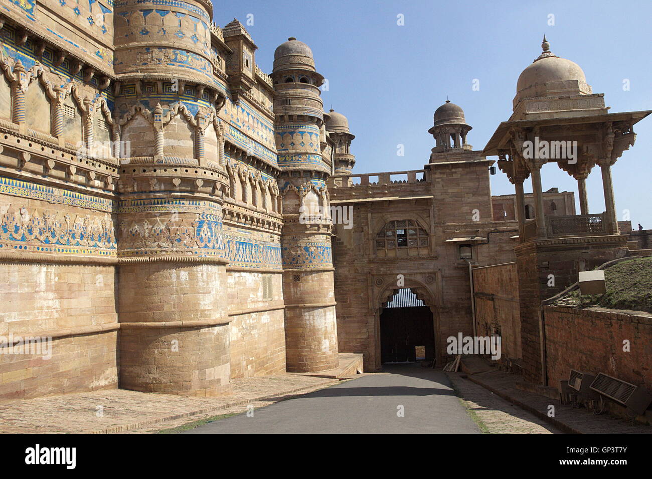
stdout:
[(473, 269), (473, 289), (478, 336), (500, 334), (500, 362), (521, 358), (516, 263)]

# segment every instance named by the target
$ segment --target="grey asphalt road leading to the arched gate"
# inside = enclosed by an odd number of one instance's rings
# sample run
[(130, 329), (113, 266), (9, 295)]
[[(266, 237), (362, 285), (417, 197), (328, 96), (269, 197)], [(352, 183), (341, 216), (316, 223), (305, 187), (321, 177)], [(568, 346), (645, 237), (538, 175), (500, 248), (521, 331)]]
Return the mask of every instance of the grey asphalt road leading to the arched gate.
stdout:
[[(440, 371), (415, 364), (346, 381), (305, 396), (200, 426), (186, 434), (467, 433), (479, 429)], [(404, 417), (398, 416), (398, 406)]]

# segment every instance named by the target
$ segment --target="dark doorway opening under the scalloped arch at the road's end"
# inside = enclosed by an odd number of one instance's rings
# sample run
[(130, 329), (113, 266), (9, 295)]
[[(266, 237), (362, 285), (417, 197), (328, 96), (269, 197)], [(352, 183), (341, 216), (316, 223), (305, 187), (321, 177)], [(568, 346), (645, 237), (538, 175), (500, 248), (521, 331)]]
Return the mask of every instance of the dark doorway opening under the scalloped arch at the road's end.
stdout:
[(380, 314), (381, 362), (433, 361), (432, 312), (409, 289), (399, 289)]

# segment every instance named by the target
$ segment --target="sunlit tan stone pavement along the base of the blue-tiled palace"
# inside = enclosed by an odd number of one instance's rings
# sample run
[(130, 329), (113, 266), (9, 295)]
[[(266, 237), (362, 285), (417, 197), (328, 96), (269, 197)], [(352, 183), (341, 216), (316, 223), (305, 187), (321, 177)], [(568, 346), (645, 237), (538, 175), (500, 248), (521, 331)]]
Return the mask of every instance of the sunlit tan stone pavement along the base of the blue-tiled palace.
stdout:
[(233, 395), (228, 397), (189, 398), (110, 389), (7, 401), (0, 403), (0, 433), (149, 432), (229, 413), (248, 403), (267, 405), (339, 382), (284, 373), (233, 379)]

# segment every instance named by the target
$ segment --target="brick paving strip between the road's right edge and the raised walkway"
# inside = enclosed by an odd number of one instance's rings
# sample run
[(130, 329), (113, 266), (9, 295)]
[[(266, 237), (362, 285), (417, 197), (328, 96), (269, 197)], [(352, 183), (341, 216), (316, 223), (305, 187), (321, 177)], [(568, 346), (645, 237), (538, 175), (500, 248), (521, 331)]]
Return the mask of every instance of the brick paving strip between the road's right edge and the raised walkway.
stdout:
[(560, 434), (562, 431), (546, 424), (509, 401), (465, 379), (462, 373), (447, 373), (462, 405), (466, 407), (490, 434)]

